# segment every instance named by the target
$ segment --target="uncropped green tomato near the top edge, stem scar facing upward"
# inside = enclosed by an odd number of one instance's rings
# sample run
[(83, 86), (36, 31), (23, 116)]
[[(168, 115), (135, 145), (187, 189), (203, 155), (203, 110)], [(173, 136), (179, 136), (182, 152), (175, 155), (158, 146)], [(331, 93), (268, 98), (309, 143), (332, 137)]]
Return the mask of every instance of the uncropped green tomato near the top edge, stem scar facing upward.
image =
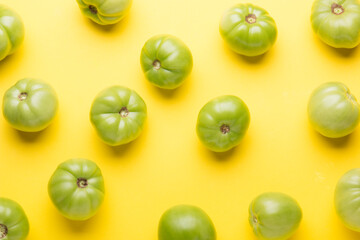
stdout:
[(277, 28), (265, 9), (250, 3), (237, 4), (223, 15), (220, 34), (236, 53), (258, 56), (274, 45)]

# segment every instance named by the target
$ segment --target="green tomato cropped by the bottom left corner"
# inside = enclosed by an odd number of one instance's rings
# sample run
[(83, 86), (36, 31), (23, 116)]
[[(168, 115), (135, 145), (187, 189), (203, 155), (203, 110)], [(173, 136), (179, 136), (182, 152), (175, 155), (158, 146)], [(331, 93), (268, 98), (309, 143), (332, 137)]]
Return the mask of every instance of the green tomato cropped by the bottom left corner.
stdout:
[(24, 240), (29, 234), (29, 221), (22, 207), (7, 198), (0, 198), (0, 239)]

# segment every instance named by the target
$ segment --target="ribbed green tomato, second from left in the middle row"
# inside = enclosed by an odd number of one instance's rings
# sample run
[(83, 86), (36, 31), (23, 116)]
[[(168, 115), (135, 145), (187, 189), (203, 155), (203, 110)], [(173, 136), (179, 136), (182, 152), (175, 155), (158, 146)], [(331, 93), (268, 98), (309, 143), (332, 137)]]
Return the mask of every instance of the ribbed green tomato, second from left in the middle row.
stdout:
[(100, 92), (90, 111), (98, 135), (111, 146), (135, 140), (142, 132), (146, 116), (144, 100), (134, 90), (121, 86)]

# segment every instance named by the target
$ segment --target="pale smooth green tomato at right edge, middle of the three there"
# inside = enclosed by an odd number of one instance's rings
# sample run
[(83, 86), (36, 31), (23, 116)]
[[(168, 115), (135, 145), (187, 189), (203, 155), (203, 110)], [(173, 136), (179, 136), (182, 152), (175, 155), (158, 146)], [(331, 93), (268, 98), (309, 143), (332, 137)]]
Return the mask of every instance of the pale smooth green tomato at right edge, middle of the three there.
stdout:
[(325, 83), (312, 93), (308, 117), (313, 128), (323, 136), (344, 137), (359, 123), (359, 104), (344, 84)]

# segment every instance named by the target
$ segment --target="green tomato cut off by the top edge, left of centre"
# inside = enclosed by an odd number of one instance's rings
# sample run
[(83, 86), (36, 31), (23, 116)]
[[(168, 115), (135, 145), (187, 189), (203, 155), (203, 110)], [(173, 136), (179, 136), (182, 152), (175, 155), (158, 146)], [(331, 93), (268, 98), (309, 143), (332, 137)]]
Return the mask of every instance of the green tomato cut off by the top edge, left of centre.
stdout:
[(76, 0), (82, 13), (100, 25), (115, 24), (130, 11), (132, 0)]

